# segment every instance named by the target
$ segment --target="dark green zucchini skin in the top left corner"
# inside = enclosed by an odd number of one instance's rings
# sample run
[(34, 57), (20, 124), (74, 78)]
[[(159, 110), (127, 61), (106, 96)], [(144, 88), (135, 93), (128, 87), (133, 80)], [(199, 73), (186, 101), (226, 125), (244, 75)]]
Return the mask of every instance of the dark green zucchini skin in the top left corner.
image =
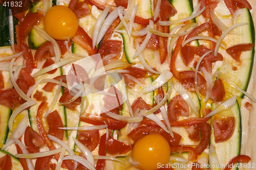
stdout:
[[(11, 45), (10, 34), (9, 34), (9, 9), (0, 4), (0, 46)], [(14, 27), (14, 43), (16, 43), (16, 29), (15, 26), (18, 24), (18, 19), (12, 16), (13, 27)]]

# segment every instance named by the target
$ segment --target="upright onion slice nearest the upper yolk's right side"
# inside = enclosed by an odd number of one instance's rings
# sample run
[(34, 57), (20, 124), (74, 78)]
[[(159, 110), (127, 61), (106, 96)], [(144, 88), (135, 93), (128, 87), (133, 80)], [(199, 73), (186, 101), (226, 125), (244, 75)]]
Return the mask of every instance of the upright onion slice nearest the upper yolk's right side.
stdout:
[(99, 15), (96, 23), (95, 23), (95, 26), (94, 26), (94, 30), (93, 30), (93, 48), (95, 47), (96, 45), (96, 41), (97, 41), (97, 38), (98, 38), (98, 35), (99, 35), (99, 31), (100, 31), (100, 28), (102, 26), (102, 23), (104, 21), (104, 19), (106, 18), (106, 15), (108, 15), (109, 11), (110, 11), (111, 7), (106, 7)]

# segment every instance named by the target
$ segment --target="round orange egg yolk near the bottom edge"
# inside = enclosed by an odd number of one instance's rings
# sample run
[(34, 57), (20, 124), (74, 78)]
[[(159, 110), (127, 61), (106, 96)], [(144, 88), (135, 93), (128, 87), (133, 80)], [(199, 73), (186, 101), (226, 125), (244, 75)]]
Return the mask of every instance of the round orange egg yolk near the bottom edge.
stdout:
[(159, 169), (170, 158), (170, 146), (162, 135), (148, 134), (135, 143), (132, 157), (140, 169)]

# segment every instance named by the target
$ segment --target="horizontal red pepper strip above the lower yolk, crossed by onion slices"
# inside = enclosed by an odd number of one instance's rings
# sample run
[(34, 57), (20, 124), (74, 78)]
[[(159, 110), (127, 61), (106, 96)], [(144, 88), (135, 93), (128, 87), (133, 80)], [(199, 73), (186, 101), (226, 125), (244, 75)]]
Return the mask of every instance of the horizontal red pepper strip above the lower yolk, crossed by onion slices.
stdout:
[[(208, 117), (207, 118), (191, 117), (191, 118), (187, 118), (187, 119), (184, 119), (184, 120), (172, 121), (172, 122), (170, 122), (170, 126), (172, 126), (172, 127), (184, 127), (184, 126), (191, 126), (191, 125), (195, 125), (195, 124), (202, 124), (202, 123), (207, 122), (208, 119), (209, 119)], [(162, 122), (165, 124), (164, 120), (162, 120)], [(146, 119), (146, 118), (143, 118), (141, 123), (144, 124), (144, 125), (158, 126), (154, 121)]]

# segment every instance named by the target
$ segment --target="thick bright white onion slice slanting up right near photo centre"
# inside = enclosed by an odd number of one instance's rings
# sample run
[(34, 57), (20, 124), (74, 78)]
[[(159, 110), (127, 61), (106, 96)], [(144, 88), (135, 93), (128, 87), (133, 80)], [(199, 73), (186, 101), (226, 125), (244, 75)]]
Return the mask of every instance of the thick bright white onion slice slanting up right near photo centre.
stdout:
[(142, 93), (148, 93), (158, 89), (159, 87), (167, 83), (167, 81), (170, 80), (172, 77), (172, 72), (170, 72), (168, 69), (164, 70), (163, 72), (161, 72), (156, 80), (154, 80), (151, 84), (148, 84), (142, 89)]

